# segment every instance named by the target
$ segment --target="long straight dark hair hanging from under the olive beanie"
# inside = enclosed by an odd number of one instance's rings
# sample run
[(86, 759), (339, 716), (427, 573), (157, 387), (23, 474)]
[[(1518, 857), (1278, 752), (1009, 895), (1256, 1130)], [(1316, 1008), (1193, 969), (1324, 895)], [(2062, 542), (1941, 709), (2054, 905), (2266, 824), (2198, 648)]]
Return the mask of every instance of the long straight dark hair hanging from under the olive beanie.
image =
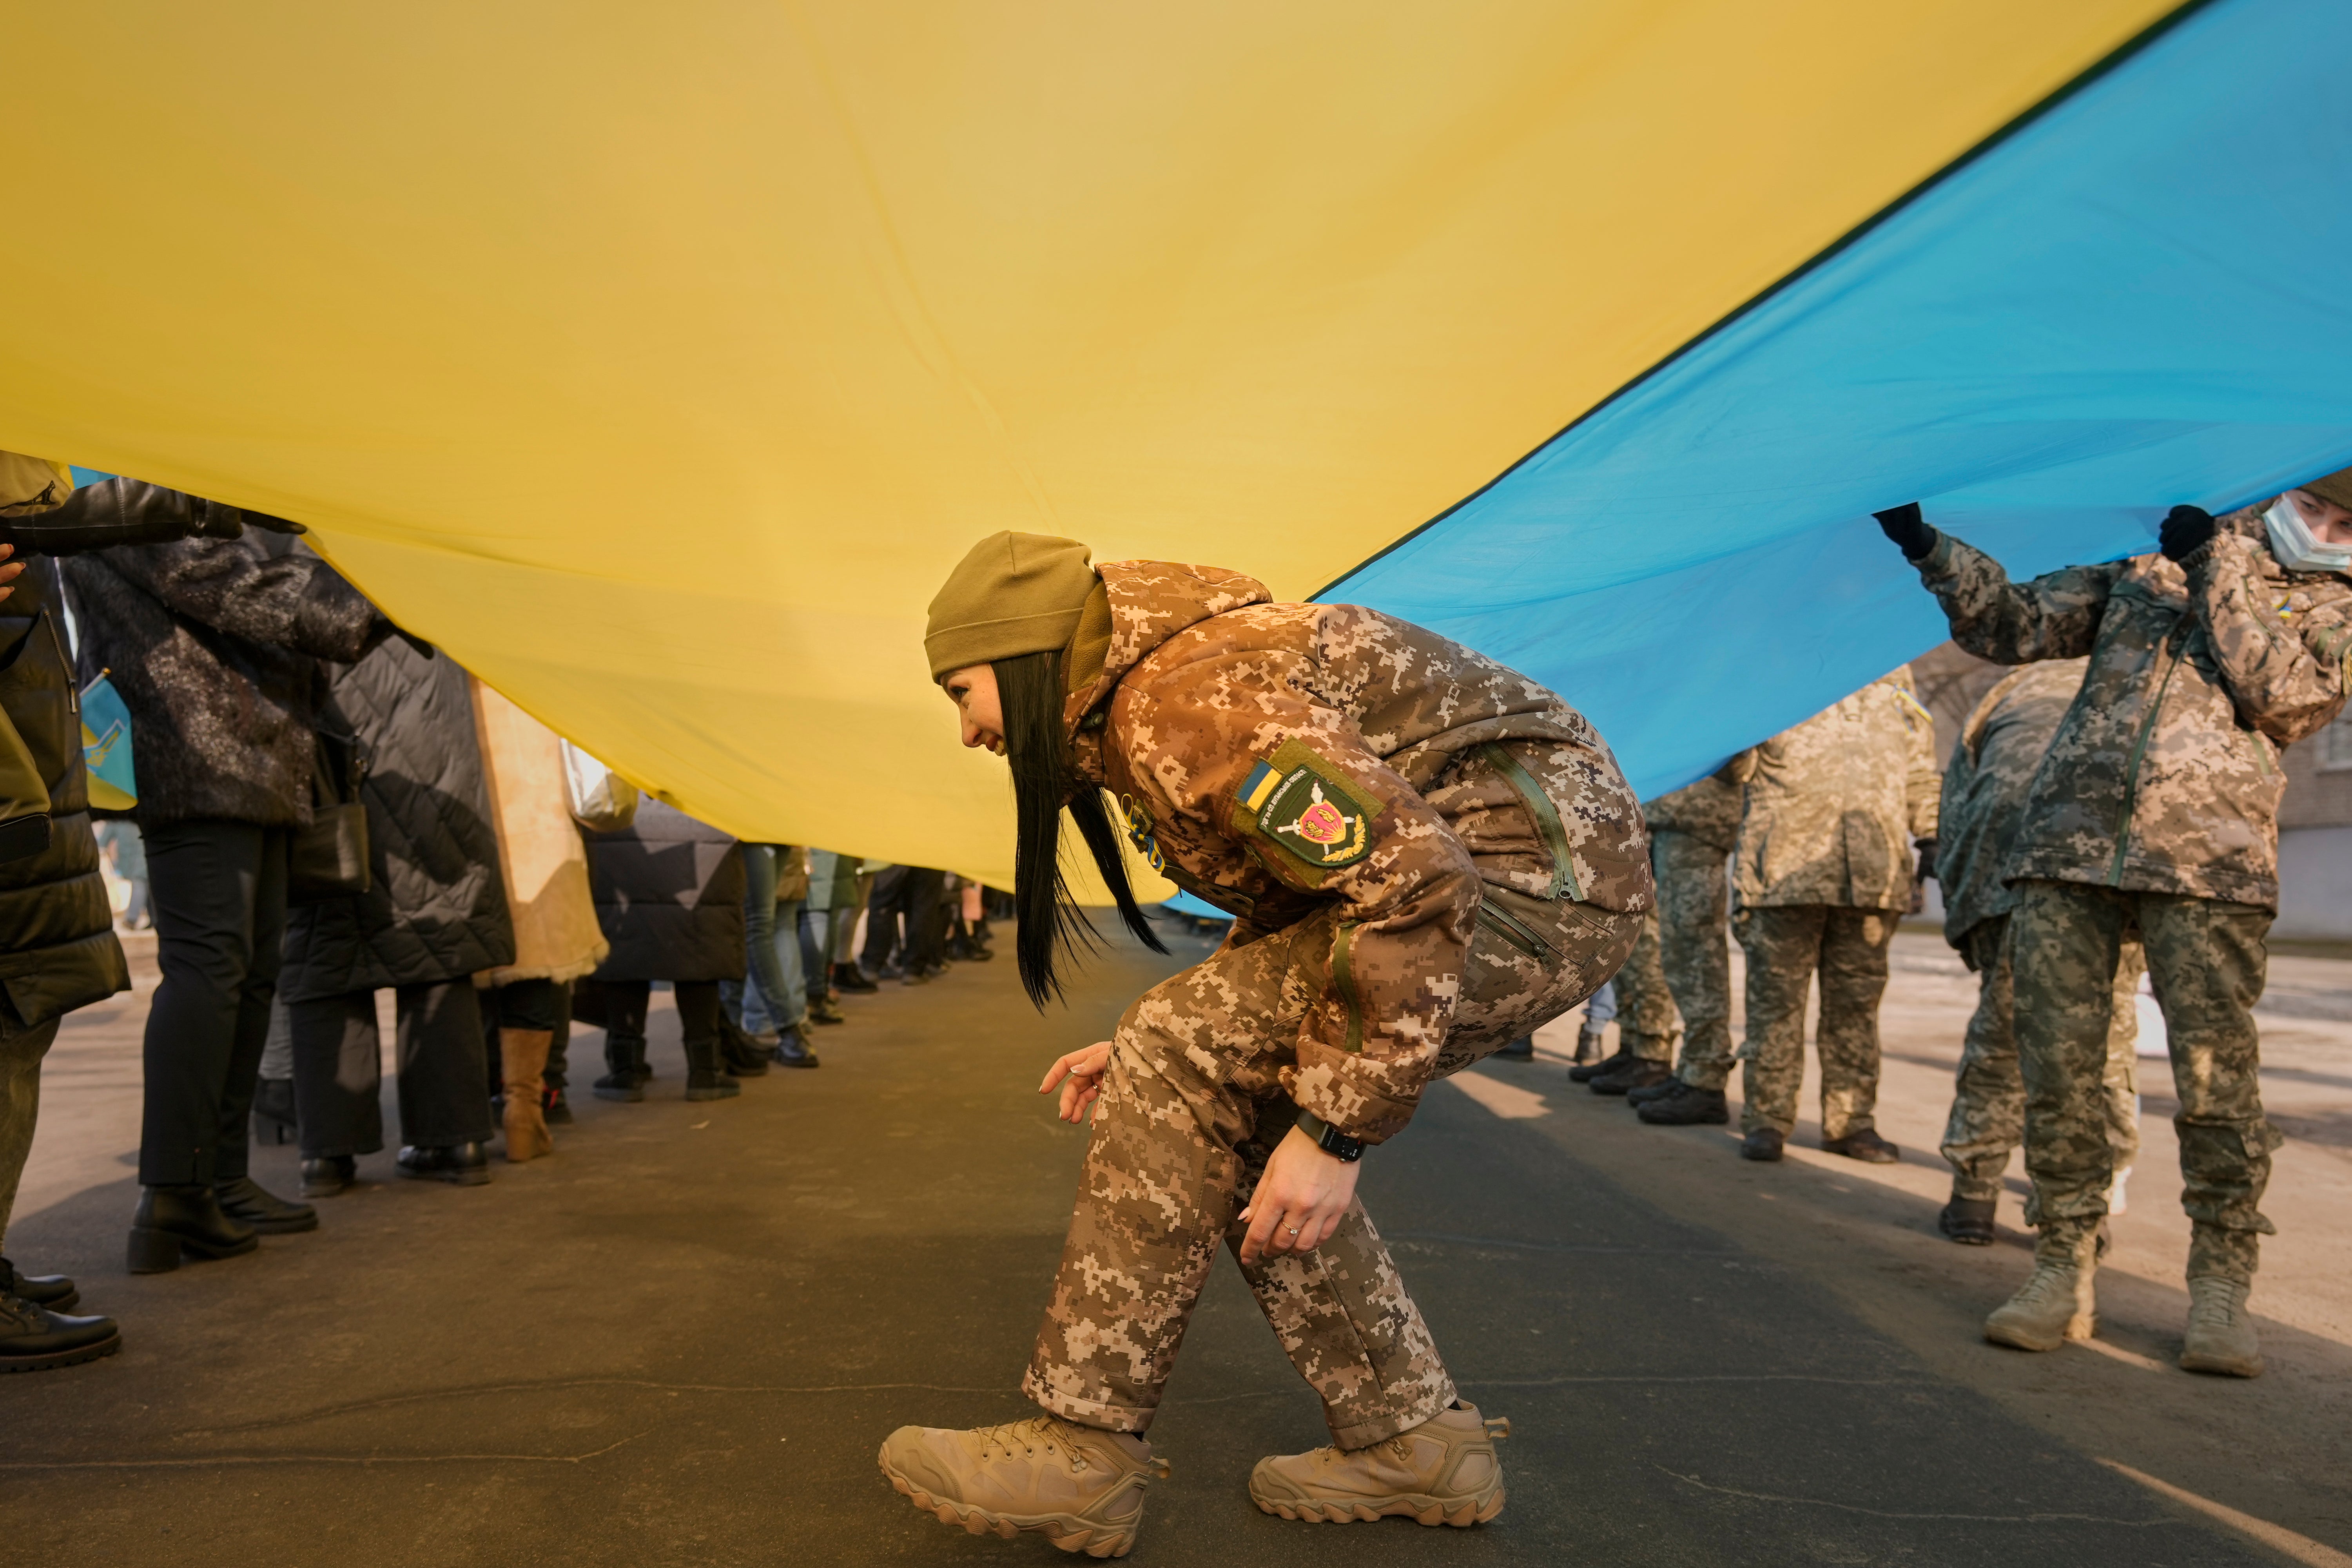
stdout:
[(1061, 813), (1068, 809), (1077, 835), (1087, 839), (1094, 867), (1120, 905), (1120, 919), (1152, 952), (1167, 952), (1150, 919), (1136, 905), (1127, 884), (1127, 860), (1120, 856), (1120, 830), (1110, 823), (1103, 792), (1077, 776), (1070, 762), (1070, 736), (1061, 726), (1061, 654), (1021, 654), (995, 661), (997, 703), (1004, 715), (1004, 759), (1014, 769), (1014, 961), (1021, 990), (1037, 1011), (1061, 999), (1054, 964), (1077, 957), (1101, 943), (1094, 922), (1070, 898), (1061, 865)]

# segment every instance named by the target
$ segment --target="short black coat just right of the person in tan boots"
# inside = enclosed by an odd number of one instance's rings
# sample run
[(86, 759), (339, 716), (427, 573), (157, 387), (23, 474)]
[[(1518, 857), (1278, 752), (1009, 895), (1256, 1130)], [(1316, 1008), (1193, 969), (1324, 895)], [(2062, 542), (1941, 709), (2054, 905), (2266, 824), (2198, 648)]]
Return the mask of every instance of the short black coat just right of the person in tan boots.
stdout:
[(597, 980), (741, 980), (743, 849), (659, 799), (590, 832), (588, 884), (612, 952)]

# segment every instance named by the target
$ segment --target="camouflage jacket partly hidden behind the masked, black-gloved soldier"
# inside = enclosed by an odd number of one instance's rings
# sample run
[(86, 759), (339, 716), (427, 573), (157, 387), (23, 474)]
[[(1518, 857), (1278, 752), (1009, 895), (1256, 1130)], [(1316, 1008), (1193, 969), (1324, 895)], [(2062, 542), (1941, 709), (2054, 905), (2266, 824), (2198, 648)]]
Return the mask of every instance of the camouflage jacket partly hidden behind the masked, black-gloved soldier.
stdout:
[(1962, 957), (1969, 931), (2018, 903), (2016, 889), (2002, 882), (2002, 863), (2025, 820), (2025, 792), (2086, 668), (2089, 658), (2058, 658), (2004, 675), (1959, 729), (1936, 813), (1936, 884), (1943, 889), (1943, 940)]

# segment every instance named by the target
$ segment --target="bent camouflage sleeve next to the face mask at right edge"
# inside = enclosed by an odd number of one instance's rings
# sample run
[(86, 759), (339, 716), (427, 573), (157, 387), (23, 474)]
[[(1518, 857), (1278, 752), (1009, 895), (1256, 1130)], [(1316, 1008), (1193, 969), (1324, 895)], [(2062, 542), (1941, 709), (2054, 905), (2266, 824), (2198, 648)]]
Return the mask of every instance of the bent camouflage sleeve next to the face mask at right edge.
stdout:
[(2319, 604), (2284, 618), (2251, 538), (2218, 534), (2183, 562), (2237, 717), (2279, 745), (2319, 731), (2345, 705), (2352, 604)]

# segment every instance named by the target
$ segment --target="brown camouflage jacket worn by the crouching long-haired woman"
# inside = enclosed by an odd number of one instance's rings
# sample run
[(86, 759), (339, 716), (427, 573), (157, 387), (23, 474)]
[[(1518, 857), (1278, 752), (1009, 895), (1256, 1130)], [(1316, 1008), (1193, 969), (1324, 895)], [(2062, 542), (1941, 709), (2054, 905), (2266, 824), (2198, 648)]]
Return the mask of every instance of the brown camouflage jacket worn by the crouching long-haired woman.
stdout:
[[(1216, 567), (1110, 562), (1070, 651), (1080, 773), (1209, 903), (1228, 940), (1338, 907), (1284, 1088), (1367, 1143), (1414, 1114), (1482, 884), (1651, 907), (1649, 839), (1573, 708), (1491, 658), (1352, 604), (1270, 604)], [(1541, 745), (1519, 745), (1541, 743)], [(1550, 802), (1538, 820), (1522, 769)]]

